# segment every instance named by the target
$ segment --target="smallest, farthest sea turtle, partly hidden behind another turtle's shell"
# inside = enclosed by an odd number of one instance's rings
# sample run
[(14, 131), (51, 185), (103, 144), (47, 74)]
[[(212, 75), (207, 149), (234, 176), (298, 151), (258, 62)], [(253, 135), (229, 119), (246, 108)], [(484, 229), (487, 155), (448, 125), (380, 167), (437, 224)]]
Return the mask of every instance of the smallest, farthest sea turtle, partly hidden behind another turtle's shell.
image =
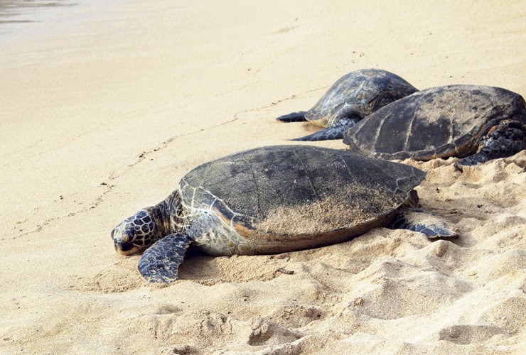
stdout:
[(325, 127), (293, 141), (341, 139), (343, 133), (377, 109), (418, 90), (398, 75), (381, 69), (362, 69), (340, 77), (308, 111), (280, 116), (282, 122), (310, 121)]

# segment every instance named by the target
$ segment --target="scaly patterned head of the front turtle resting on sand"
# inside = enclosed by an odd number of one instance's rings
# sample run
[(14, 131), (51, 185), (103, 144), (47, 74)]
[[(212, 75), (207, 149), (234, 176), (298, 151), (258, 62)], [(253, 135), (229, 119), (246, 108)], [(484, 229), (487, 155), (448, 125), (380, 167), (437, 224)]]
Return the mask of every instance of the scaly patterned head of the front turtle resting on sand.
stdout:
[(130, 255), (146, 250), (162, 238), (151, 208), (141, 209), (112, 231), (112, 239), (117, 253)]

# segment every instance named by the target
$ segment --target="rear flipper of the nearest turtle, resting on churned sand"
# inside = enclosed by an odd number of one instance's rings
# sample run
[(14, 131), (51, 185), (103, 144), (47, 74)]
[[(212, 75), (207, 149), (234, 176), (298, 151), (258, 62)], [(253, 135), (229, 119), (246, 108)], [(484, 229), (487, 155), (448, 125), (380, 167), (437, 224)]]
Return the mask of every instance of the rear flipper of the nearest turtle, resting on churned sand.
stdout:
[(395, 217), (392, 222), (392, 228), (418, 231), (425, 234), (425, 236), (431, 241), (439, 239), (452, 240), (458, 238), (458, 233), (453, 231), (446, 222), (439, 217), (436, 217), (434, 214), (424, 212), (422, 209), (404, 209), (404, 211)]

